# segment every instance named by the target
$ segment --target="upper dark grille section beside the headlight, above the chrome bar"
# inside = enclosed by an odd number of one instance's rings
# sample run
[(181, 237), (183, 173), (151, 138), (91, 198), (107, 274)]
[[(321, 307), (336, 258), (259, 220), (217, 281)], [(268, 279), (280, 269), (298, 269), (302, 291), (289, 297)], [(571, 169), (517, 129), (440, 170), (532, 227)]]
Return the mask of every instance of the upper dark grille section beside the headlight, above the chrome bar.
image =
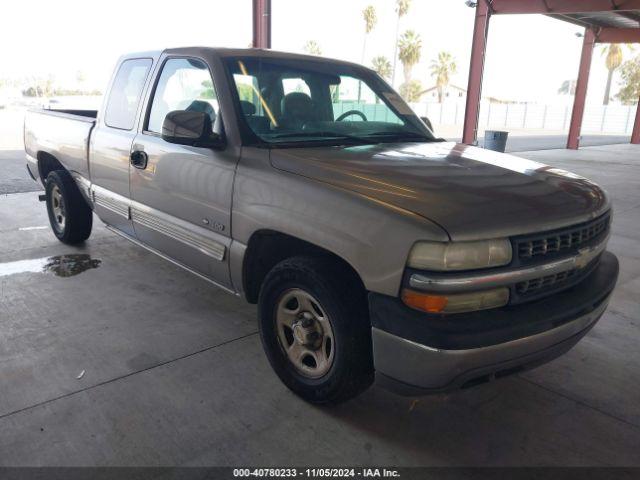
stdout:
[(587, 223), (556, 230), (546, 234), (527, 235), (515, 239), (518, 258), (529, 260), (553, 253), (578, 250), (591, 240), (606, 234), (610, 215), (605, 214)]

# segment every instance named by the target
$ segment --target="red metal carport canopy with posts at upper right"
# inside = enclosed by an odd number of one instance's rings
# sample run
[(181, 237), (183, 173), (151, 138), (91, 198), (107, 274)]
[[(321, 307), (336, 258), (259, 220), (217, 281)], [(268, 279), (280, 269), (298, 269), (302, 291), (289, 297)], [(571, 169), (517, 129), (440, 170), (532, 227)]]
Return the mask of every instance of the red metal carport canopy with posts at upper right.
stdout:
[[(543, 14), (585, 28), (567, 148), (579, 146), (591, 57), (596, 43), (639, 43), (640, 0), (478, 0), (469, 67), (463, 143), (475, 144), (489, 19), (503, 14)], [(631, 133), (640, 143), (640, 102)]]

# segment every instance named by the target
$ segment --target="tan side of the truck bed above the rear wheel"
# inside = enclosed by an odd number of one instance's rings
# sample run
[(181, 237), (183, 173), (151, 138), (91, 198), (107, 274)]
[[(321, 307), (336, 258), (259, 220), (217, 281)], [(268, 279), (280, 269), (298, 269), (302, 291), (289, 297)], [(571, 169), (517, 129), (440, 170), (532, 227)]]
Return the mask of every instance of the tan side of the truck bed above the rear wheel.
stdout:
[(97, 110), (27, 111), (24, 143), (31, 172), (38, 171), (38, 158), (49, 154), (70, 172), (89, 178), (89, 138), (97, 115)]

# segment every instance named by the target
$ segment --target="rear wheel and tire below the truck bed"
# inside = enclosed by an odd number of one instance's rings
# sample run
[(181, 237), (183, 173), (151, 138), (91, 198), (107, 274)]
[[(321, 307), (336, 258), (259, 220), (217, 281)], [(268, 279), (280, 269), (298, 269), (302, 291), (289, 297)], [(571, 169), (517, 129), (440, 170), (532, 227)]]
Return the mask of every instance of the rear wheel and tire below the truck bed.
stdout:
[(62, 243), (76, 245), (91, 235), (93, 212), (66, 170), (54, 170), (45, 182), (49, 223)]

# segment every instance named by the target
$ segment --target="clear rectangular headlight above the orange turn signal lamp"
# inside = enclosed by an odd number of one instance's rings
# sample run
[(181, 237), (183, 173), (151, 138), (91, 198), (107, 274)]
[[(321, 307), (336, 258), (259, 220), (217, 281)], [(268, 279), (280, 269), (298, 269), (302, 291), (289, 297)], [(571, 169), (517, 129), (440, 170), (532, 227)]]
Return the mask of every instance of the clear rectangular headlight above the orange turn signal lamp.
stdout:
[(508, 238), (479, 242), (418, 242), (407, 265), (435, 271), (474, 270), (498, 267), (511, 262), (511, 242)]

